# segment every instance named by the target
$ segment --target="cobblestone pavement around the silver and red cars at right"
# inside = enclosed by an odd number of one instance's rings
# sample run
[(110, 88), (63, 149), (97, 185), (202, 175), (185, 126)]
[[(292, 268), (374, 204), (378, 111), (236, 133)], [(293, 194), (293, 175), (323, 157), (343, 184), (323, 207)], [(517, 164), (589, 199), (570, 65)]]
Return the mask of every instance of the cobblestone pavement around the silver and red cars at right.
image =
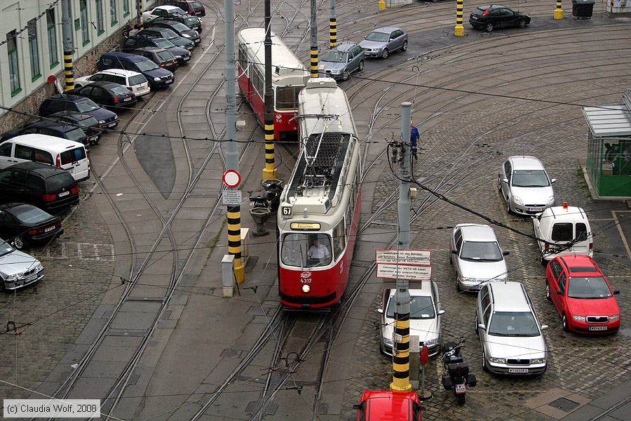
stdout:
[[(500, 42), (500, 41), (497, 41)], [(563, 37), (559, 39), (564, 42)], [(524, 50), (531, 44), (523, 40)], [(497, 46), (489, 41), (489, 50)], [(520, 42), (513, 46), (520, 51)], [(590, 47), (591, 48), (591, 47)], [(464, 47), (463, 49), (467, 49)], [(480, 48), (482, 50), (482, 48)], [(529, 53), (534, 53), (533, 48)], [(452, 56), (461, 51), (454, 48)], [(499, 54), (501, 55), (501, 54)], [(536, 55), (531, 57), (536, 60)], [(585, 57), (583, 57), (585, 59)], [(440, 59), (439, 59), (440, 60)], [(517, 62), (497, 58), (494, 67), (494, 81), (508, 81), (512, 70), (528, 68), (527, 61)], [(543, 60), (543, 59), (542, 59)], [(609, 76), (597, 81), (591, 78), (570, 81), (569, 77), (559, 76), (555, 83), (538, 83), (537, 75), (552, 74), (556, 65), (564, 66), (565, 59), (558, 58), (555, 64), (530, 71), (524, 70), (517, 79), (518, 88), (513, 93), (529, 98), (554, 99), (558, 102), (609, 104), (618, 103), (620, 94), (627, 88), (628, 80), (620, 76), (620, 67), (612, 66)], [(440, 69), (439, 63), (433, 63)], [(480, 66), (476, 66), (480, 65)], [(482, 60), (466, 70), (460, 71), (459, 78), (447, 78), (443, 72), (437, 77), (445, 77), (449, 82), (464, 86), (463, 89), (477, 89), (476, 82), (484, 81), (481, 75), (487, 74)], [(535, 70), (536, 69), (536, 70)], [(594, 69), (595, 74), (600, 74)], [(574, 74), (576, 75), (576, 74)], [(423, 74), (423, 79), (433, 80), (432, 71)], [(566, 75), (567, 76), (567, 75)], [(486, 77), (486, 76), (484, 76)], [(513, 76), (511, 76), (513, 77)], [(506, 79), (505, 79), (506, 78)], [(578, 77), (581, 79), (581, 77)], [(456, 83), (457, 81), (457, 83)], [(423, 83), (423, 82), (419, 82)], [(439, 82), (434, 80), (433, 85)], [(545, 88), (538, 87), (545, 86)], [(441, 85), (449, 86), (452, 85)], [(399, 90), (401, 91), (402, 88)], [(490, 92), (496, 92), (489, 88)], [(409, 94), (408, 94), (409, 95)], [(431, 98), (427, 92), (416, 97), (412, 107), (416, 122), (433, 112), (433, 105), (440, 101)], [(436, 95), (435, 96), (439, 96)], [(444, 96), (447, 96), (445, 93)], [(569, 201), (573, 206), (587, 210), (595, 234), (595, 259), (609, 276), (613, 289), (621, 290), (618, 304), (621, 313), (629, 314), (631, 304), (625, 297), (631, 291), (628, 280), (631, 274), (629, 258), (620, 254), (620, 236), (613, 225), (612, 210), (625, 209), (624, 203), (594, 202), (590, 199), (583, 179), (579, 162), (585, 160), (588, 137), (587, 123), (580, 107), (550, 106), (543, 102), (520, 102), (508, 98), (472, 98), (466, 107), (449, 109), (446, 116), (433, 119), (421, 125), (421, 152), (419, 168), (415, 175), (419, 182), (437, 188), (450, 199), (473, 208), (494, 220), (506, 223), (515, 229), (531, 234), (529, 218), (508, 215), (506, 206), (497, 192), (497, 173), (501, 163), (511, 155), (532, 154), (542, 159), (551, 178), (559, 181), (554, 185), (557, 200)], [(426, 97), (428, 100), (426, 100)], [(471, 100), (468, 100), (471, 98)], [(397, 103), (405, 100), (400, 98)], [(426, 107), (427, 103), (430, 103)], [(444, 100), (442, 102), (445, 103)], [(393, 112), (393, 111), (391, 111)], [(467, 149), (469, 148), (469, 149)], [(463, 154), (464, 152), (464, 154)], [(389, 168), (379, 176), (372, 202), (372, 212), (388, 198), (398, 185), (393, 182)], [(617, 335), (584, 337), (564, 333), (560, 318), (554, 307), (545, 300), (545, 270), (538, 262), (538, 250), (531, 239), (506, 229), (495, 228), (498, 239), (505, 250), (510, 279), (524, 283), (536, 306), (542, 323), (550, 325), (545, 337), (550, 349), (549, 368), (544, 375), (535, 378), (514, 378), (489, 375), (482, 371), (480, 341), (473, 329), (475, 295), (456, 293), (455, 275), (449, 265), (449, 234), (454, 225), (461, 222), (482, 222), (464, 210), (442, 201), (436, 201), (419, 192), (412, 205), (421, 206), (421, 216), (412, 224), (413, 249), (432, 250), (433, 278), (440, 290), (442, 308), (446, 313), (442, 319), (442, 338), (454, 340), (466, 338), (463, 355), (477, 375), (478, 385), (467, 394), (467, 403), (457, 407), (454, 396), (440, 387), (442, 366), (436, 361), (428, 365), (429, 388), (433, 399), (424, 403), (426, 420), (554, 420), (566, 412), (548, 405), (561, 396), (574, 396), (583, 403), (595, 399), (604, 392), (631, 378), (627, 370), (627, 352), (631, 345), (631, 332), (620, 330)], [(435, 203), (434, 203), (435, 202)], [(381, 229), (396, 227), (396, 204), (378, 218), (374, 226)], [(381, 222), (381, 224), (379, 224)], [(372, 309), (379, 307), (379, 295), (372, 302)], [(365, 381), (348, 382), (343, 401), (346, 418), (353, 417), (351, 405), (357, 403), (365, 389), (388, 389), (391, 382), (391, 361), (379, 354), (379, 332), (376, 329), (378, 314), (369, 309), (362, 330), (358, 333), (355, 351), (357, 361), (348, 370), (354, 377)], [(624, 322), (623, 322), (624, 323)], [(583, 399), (583, 400), (581, 400)]]

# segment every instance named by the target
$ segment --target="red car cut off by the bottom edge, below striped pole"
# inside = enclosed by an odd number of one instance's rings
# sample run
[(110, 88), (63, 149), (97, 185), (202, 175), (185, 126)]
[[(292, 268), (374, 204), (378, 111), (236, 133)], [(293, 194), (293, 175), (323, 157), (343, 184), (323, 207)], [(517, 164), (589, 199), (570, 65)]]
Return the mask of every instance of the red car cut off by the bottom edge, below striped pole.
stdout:
[(414, 392), (367, 390), (353, 409), (357, 410), (357, 421), (421, 421), (425, 408)]

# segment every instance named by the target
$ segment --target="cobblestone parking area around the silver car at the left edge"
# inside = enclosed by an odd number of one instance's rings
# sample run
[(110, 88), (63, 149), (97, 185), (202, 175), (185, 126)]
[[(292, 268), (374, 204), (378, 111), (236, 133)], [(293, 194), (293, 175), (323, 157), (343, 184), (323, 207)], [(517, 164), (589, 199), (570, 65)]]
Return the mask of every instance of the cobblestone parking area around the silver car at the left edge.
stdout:
[[(95, 201), (83, 200), (64, 220), (62, 236), (48, 247), (25, 252), (42, 262), (45, 276), (33, 286), (0, 295), (4, 323), (32, 323), (18, 329), (18, 335), (0, 335), (0, 379), (36, 390), (74, 347), (104, 291), (111, 288), (114, 244)], [(25, 389), (0, 384), (3, 398), (31, 395)]]

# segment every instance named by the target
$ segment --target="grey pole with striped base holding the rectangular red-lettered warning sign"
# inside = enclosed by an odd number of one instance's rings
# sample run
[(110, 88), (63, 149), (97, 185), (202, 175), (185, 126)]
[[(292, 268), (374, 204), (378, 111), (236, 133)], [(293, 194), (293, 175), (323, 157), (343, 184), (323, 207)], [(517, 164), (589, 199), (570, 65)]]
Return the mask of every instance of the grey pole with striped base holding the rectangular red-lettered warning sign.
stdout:
[[(412, 103), (402, 102), (401, 104), (401, 136), (402, 148), (399, 165), (401, 168), (401, 184), (399, 187), (399, 201), (397, 203), (399, 219), (399, 250), (409, 249), (409, 180), (410, 178), (410, 123), (412, 121)], [(395, 335), (400, 336), (400, 340), (393, 347), (392, 357), (392, 390), (411, 390), (409, 383), (409, 290), (407, 279), (397, 279), (397, 292), (395, 300), (397, 309), (395, 313)], [(397, 337), (398, 338), (398, 337)]]

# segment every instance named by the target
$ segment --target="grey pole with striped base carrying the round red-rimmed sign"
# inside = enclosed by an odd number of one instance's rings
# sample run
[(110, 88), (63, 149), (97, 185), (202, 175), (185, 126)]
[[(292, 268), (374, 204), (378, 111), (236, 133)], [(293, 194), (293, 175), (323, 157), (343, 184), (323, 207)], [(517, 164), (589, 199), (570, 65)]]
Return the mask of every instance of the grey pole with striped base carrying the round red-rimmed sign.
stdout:
[[(239, 171), (236, 140), (236, 74), (234, 69), (234, 0), (224, 0), (226, 15), (226, 170)], [(228, 206), (228, 253), (234, 255), (234, 276), (245, 281), (241, 261), (241, 207)]]

